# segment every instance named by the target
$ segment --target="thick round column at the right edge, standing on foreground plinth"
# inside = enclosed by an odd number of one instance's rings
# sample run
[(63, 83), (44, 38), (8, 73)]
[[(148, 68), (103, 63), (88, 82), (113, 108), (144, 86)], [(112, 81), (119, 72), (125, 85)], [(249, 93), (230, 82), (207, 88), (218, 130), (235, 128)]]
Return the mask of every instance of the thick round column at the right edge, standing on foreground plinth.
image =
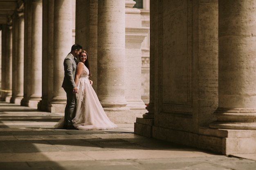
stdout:
[(219, 102), (211, 128), (256, 129), (256, 3), (219, 0)]

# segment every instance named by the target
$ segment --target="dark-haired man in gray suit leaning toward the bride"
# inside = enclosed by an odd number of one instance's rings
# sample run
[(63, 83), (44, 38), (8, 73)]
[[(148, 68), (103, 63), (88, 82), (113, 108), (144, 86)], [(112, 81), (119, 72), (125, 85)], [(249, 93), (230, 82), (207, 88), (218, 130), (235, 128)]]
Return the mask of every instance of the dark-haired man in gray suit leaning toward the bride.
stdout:
[(65, 118), (64, 118), (64, 128), (65, 129), (76, 129), (72, 125), (72, 119), (76, 114), (76, 93), (78, 92), (75, 84), (75, 73), (76, 64), (79, 57), (79, 53), (82, 51), (82, 46), (79, 44), (74, 44), (71, 47), (71, 52), (65, 57), (64, 60), (64, 71), (65, 76), (63, 80), (62, 87), (67, 93), (67, 105), (65, 108)]

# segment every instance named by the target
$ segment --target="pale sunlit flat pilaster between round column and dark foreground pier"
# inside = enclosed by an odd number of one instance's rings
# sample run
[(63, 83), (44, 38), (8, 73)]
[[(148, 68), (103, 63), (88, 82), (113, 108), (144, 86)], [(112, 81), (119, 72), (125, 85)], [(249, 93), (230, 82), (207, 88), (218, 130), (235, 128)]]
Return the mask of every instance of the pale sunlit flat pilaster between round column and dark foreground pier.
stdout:
[(125, 97), (135, 117), (142, 117), (146, 106), (141, 99), (141, 43), (149, 28), (141, 26), (140, 10), (133, 8), (134, 4), (126, 0)]

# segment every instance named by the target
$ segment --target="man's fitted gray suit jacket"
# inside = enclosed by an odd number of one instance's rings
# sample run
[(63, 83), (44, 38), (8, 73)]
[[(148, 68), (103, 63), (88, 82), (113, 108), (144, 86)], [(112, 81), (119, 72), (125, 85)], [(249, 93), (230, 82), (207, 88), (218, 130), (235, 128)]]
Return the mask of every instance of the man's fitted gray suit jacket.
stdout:
[(69, 53), (67, 57), (64, 59), (64, 71), (65, 76), (63, 80), (62, 87), (63, 88), (74, 88), (75, 84), (75, 74), (76, 74), (76, 62), (74, 60), (74, 56)]

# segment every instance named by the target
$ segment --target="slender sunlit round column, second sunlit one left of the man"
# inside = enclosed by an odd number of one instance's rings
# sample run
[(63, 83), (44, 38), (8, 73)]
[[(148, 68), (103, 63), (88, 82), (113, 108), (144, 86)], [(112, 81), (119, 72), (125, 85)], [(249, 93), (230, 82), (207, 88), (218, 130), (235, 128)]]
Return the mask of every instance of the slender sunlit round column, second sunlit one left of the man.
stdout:
[(42, 0), (32, 1), (31, 20), (31, 95), (29, 107), (37, 107), (42, 97)]

